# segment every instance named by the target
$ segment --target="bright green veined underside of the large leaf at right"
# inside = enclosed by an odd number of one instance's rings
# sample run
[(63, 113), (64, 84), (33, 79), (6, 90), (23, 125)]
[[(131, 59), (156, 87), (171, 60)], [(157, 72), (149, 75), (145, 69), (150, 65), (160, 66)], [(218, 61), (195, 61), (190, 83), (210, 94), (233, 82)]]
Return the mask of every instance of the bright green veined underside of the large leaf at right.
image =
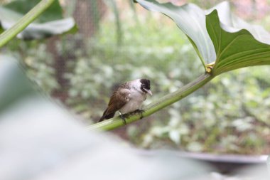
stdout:
[[(206, 26), (217, 54), (212, 69), (214, 75), (252, 65), (270, 65), (270, 45), (266, 44), (270, 41), (257, 36), (259, 31), (261, 34), (265, 34), (263, 28), (259, 26), (254, 28), (252, 25), (246, 24), (246, 28), (253, 28), (257, 33), (257, 35), (253, 34), (254, 36), (246, 29), (234, 32), (237, 29), (220, 23), (216, 10), (206, 16)], [(227, 32), (223, 28), (232, 32)]]

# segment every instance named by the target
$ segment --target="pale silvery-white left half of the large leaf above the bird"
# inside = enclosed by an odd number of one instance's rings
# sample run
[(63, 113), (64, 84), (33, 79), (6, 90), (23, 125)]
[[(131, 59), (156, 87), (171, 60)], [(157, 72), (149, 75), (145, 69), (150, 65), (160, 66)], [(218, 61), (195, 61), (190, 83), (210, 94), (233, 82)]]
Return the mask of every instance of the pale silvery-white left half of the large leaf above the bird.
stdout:
[(200, 7), (195, 4), (183, 6), (175, 6), (171, 3), (159, 4), (155, 0), (136, 1), (149, 11), (161, 12), (172, 18), (193, 43), (204, 65), (215, 61), (215, 48), (205, 26), (205, 11)]

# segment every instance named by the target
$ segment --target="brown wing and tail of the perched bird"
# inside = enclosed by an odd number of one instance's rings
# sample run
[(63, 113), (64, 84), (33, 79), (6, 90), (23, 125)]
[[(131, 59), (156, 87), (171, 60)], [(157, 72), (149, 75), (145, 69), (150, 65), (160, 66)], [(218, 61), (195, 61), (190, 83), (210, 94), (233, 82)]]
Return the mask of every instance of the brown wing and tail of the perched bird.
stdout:
[(130, 90), (124, 88), (122, 85), (118, 90), (114, 91), (112, 94), (107, 109), (104, 111), (102, 117), (100, 118), (99, 122), (103, 121), (104, 119), (109, 119), (114, 117), (115, 112), (120, 110), (126, 102), (130, 100)]

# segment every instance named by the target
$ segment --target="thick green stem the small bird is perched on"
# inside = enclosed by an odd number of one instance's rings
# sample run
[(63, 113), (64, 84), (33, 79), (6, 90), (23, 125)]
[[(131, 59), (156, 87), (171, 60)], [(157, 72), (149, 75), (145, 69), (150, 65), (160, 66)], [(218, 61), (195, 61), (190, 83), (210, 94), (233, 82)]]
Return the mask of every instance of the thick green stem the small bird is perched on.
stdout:
[[(200, 75), (196, 80), (194, 80), (191, 83), (188, 83), (187, 85), (183, 86), (179, 90), (172, 92), (171, 94), (165, 95), (161, 97), (156, 102), (152, 102), (151, 104), (147, 105), (144, 109), (144, 112), (142, 113), (143, 117), (148, 117), (149, 115), (152, 115), (154, 112), (157, 112), (158, 110), (163, 109), (164, 107), (167, 107), (168, 105), (173, 104), (174, 102), (177, 102), (178, 100), (183, 99), (183, 97), (186, 97), (187, 95), (190, 95), (195, 90), (198, 90), (198, 88), (201, 88), (205, 83), (212, 80), (214, 76), (210, 73), (205, 73), (203, 75)], [(126, 118), (126, 124), (129, 124), (131, 122), (134, 122), (136, 120), (140, 120), (141, 115), (135, 114), (130, 115)], [(121, 120), (120, 117), (114, 117), (109, 120), (104, 120), (102, 122), (96, 123), (94, 125), (90, 125), (89, 129), (97, 129), (97, 130), (111, 130), (116, 129), (117, 127), (121, 127), (124, 125), (123, 120)]]

